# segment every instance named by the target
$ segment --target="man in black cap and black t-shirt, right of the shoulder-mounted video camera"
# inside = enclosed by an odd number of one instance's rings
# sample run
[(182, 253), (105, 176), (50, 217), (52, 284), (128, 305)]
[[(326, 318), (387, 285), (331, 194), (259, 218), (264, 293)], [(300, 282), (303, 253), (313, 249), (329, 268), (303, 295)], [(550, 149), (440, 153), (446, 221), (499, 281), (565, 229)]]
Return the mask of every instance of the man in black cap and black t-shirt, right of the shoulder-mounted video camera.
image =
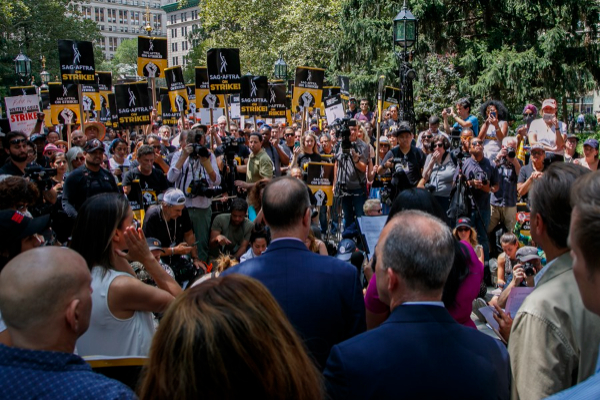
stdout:
[(418, 185), (423, 177), (425, 154), (412, 145), (412, 129), (408, 122), (403, 121), (392, 128), (392, 135), (398, 138), (398, 146), (385, 155), (378, 173), (382, 174), (385, 168), (392, 170), (392, 185), (397, 195), (405, 189)]

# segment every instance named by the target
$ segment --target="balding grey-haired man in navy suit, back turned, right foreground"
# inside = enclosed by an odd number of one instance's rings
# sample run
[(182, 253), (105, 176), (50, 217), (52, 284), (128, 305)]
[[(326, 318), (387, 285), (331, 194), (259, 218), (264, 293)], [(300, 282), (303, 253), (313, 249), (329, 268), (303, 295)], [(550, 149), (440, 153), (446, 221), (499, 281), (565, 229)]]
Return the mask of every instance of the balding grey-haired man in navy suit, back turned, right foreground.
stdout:
[(456, 323), (441, 302), (453, 258), (450, 230), (430, 215), (405, 211), (386, 225), (375, 273), (392, 313), (333, 347), (324, 372), (333, 399), (510, 397), (506, 348)]

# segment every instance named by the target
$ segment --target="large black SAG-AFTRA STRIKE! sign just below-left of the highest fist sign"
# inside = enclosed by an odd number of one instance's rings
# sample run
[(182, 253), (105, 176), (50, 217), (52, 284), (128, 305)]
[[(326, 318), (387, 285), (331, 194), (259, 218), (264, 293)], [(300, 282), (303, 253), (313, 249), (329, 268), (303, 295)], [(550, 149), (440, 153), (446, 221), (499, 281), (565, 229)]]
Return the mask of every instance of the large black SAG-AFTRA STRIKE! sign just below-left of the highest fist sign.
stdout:
[(130, 127), (150, 123), (150, 98), (148, 82), (124, 83), (115, 85), (119, 126)]

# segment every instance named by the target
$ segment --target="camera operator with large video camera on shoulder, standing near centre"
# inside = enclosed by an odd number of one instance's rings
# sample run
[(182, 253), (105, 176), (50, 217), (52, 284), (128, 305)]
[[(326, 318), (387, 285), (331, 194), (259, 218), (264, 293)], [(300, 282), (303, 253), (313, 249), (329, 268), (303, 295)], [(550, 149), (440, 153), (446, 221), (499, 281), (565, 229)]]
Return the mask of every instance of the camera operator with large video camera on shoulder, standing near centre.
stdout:
[[(369, 165), (369, 145), (358, 140), (356, 120), (344, 120), (337, 132), (341, 139), (335, 154), (334, 188), (342, 192), (342, 209), (346, 225), (354, 218), (363, 216), (363, 205), (367, 200), (367, 166)], [(347, 124), (347, 126), (344, 126)]]

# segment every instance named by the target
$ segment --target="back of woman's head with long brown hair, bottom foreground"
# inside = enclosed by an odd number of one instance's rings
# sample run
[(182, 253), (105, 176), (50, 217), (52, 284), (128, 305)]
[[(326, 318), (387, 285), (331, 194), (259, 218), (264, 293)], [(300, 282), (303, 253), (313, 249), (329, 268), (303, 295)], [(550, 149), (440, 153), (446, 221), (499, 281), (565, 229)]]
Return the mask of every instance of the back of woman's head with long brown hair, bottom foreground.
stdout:
[(322, 378), (268, 289), (233, 274), (179, 296), (152, 341), (146, 399), (322, 399)]

